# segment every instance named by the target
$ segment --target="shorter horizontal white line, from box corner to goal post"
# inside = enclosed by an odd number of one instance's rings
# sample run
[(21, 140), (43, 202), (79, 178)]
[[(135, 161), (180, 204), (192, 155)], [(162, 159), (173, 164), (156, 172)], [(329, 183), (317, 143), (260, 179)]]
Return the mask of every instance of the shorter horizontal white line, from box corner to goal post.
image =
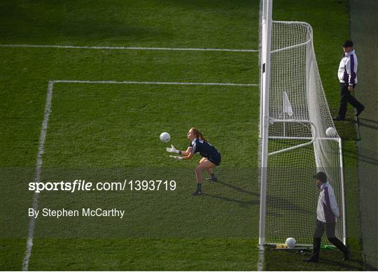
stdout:
[(254, 83), (176, 83), (155, 81), (113, 81), (113, 80), (52, 80), (53, 83), (87, 83), (87, 84), (145, 84), (145, 85), (213, 85), (213, 86), (258, 86)]

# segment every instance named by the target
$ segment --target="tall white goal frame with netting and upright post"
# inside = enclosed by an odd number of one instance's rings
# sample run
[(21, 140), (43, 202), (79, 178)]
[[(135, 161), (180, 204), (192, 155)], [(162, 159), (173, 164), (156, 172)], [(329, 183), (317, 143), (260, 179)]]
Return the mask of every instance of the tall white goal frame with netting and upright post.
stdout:
[(346, 244), (342, 141), (318, 72), (312, 28), (273, 21), (272, 0), (262, 0), (261, 29), (259, 244), (294, 237), (312, 245), (316, 171), (325, 172), (335, 190), (342, 214), (336, 236)]

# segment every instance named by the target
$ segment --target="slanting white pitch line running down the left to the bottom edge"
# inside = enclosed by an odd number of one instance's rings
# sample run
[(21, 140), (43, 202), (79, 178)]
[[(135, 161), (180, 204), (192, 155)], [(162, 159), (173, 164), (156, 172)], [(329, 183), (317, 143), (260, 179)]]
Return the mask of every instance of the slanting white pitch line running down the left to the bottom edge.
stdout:
[[(51, 99), (52, 99), (52, 88), (54, 83), (52, 81), (48, 82), (48, 91), (46, 96), (46, 103), (45, 103), (45, 113), (43, 114), (43, 122), (41, 127), (41, 134), (39, 136), (39, 145), (38, 145), (38, 155), (36, 161), (36, 173), (34, 176), (34, 182), (41, 181), (41, 168), (42, 168), (42, 156), (45, 150), (45, 138), (46, 138), (46, 131), (48, 127), (48, 118), (50, 117), (51, 112)], [(33, 197), (33, 208), (34, 210), (38, 209), (38, 196), (39, 193), (34, 192)], [(25, 252), (25, 258), (22, 262), (22, 271), (27, 271), (29, 267), (29, 259), (31, 255), (31, 248), (33, 247), (33, 237), (34, 237), (34, 227), (35, 227), (36, 219), (32, 216), (29, 220), (29, 229), (28, 229), (28, 237), (27, 237), (27, 250)]]

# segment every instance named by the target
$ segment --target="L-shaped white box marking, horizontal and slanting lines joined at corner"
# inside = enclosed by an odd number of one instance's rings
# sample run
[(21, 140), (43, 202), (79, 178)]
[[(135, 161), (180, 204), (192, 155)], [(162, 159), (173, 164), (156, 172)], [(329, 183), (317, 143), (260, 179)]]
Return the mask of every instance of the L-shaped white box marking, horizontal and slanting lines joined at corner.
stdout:
[[(52, 90), (54, 88), (54, 83), (89, 83), (89, 84), (157, 84), (157, 85), (228, 85), (228, 86), (258, 86), (258, 84), (239, 84), (239, 83), (169, 83), (169, 82), (148, 82), (148, 81), (90, 81), (90, 80), (49, 80), (48, 90), (46, 95), (45, 103), (45, 113), (43, 114), (43, 122), (41, 127), (41, 134), (39, 136), (38, 145), (38, 155), (36, 160), (36, 173), (34, 176), (34, 182), (41, 182), (41, 168), (42, 168), (42, 157), (45, 149), (45, 138), (48, 128), (48, 120), (51, 113), (51, 101), (52, 101)], [(38, 209), (38, 196), (39, 193), (34, 192), (33, 196), (33, 208)], [(36, 219), (30, 217), (29, 229), (27, 237), (27, 250), (25, 251), (24, 261), (22, 262), (22, 271), (27, 271), (29, 267), (29, 259), (31, 256), (31, 248), (33, 247), (34, 238), (34, 227), (36, 224)]]

